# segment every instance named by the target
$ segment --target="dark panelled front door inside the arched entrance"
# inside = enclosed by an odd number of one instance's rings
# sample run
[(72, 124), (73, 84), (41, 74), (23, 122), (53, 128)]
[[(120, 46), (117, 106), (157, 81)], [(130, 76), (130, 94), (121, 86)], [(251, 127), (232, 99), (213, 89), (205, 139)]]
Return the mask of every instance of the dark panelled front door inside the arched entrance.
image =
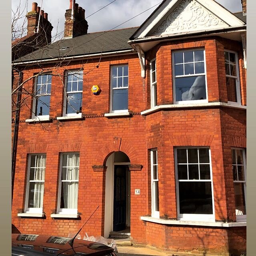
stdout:
[(126, 166), (114, 166), (113, 231), (126, 228)]

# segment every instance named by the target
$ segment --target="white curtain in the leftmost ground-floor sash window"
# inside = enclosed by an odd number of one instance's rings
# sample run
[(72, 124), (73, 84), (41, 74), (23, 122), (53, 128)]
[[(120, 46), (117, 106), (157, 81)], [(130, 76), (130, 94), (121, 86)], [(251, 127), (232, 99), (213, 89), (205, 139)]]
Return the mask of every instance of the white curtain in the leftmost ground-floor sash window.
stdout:
[(34, 208), (43, 208), (44, 198), (44, 174), (46, 166), (46, 156), (41, 155), (36, 158), (34, 180), (41, 182), (34, 182)]

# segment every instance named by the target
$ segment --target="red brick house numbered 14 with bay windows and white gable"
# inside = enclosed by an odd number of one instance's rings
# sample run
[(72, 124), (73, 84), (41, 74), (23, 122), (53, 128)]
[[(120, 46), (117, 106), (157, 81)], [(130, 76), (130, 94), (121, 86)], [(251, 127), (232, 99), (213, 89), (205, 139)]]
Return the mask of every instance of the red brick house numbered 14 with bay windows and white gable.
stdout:
[(65, 38), (16, 60), (36, 95), (20, 111), (12, 224), (68, 236), (99, 206), (82, 235), (129, 228), (165, 251), (245, 252), (242, 2), (232, 14), (164, 0), (138, 28), (88, 34), (70, 0)]

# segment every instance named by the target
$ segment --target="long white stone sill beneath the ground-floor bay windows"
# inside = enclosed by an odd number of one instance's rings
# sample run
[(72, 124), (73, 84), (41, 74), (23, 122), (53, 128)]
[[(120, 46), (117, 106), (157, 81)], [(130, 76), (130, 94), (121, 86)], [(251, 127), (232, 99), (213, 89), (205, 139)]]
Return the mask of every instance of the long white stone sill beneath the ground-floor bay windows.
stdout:
[(243, 227), (246, 226), (246, 222), (207, 222), (207, 221), (194, 221), (194, 220), (162, 220), (158, 218), (141, 216), (141, 220), (154, 222), (158, 224), (167, 224), (167, 225), (190, 225), (190, 226), (210, 226), (210, 227)]

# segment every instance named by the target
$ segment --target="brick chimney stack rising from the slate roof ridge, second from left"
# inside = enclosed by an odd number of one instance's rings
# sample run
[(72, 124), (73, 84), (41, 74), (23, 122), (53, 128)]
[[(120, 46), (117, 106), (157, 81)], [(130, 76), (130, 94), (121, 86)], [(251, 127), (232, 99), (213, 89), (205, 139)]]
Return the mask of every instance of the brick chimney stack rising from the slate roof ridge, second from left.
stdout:
[(64, 39), (87, 34), (87, 31), (88, 23), (84, 19), (84, 9), (79, 7), (75, 0), (69, 0), (69, 9), (65, 13)]

